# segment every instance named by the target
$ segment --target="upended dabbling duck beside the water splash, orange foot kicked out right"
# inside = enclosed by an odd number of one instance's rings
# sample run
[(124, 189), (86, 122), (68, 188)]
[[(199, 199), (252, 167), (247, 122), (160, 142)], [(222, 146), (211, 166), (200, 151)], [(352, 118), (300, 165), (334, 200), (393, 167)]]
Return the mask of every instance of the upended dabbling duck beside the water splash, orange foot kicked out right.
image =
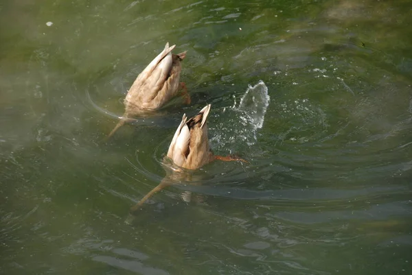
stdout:
[(183, 169), (199, 169), (213, 160), (240, 160), (247, 163), (246, 160), (238, 158), (237, 156), (216, 156), (211, 152), (206, 123), (210, 107), (210, 104), (205, 106), (205, 108), (189, 120), (187, 120), (186, 114), (183, 115), (182, 121), (170, 143), (168, 154), (165, 156), (165, 158), (169, 158), (169, 160), (172, 161), (174, 173), (172, 176), (164, 178), (157, 187), (152, 189), (152, 191), (137, 202), (135, 206), (130, 208), (130, 213), (135, 212), (148, 198), (158, 191), (161, 191), (161, 189), (174, 184), (174, 182), (179, 182), (182, 179), (185, 180), (187, 174)]

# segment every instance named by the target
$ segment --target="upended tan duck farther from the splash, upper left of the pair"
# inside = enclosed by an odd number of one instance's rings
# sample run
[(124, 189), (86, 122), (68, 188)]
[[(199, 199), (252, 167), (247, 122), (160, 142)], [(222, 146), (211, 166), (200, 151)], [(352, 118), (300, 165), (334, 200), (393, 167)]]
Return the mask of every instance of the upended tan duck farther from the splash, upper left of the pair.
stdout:
[(166, 43), (165, 49), (137, 75), (124, 99), (124, 115), (108, 134), (107, 139), (124, 123), (132, 121), (131, 117), (161, 108), (177, 95), (179, 88), (182, 88), (185, 103), (190, 104), (190, 96), (187, 94), (185, 83), (179, 83), (182, 70), (181, 61), (186, 57), (186, 51), (172, 54), (175, 46), (169, 47), (169, 43)]

